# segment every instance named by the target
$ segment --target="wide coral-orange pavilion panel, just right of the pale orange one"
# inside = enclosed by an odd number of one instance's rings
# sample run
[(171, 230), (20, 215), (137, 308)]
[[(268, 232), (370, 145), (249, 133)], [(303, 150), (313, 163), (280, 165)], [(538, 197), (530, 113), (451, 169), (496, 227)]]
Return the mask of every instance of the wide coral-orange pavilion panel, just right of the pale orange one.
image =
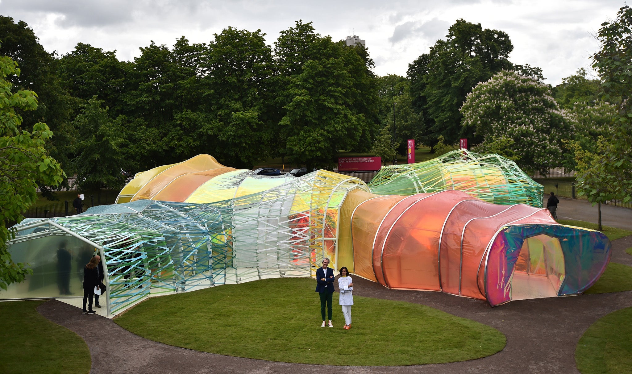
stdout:
[(471, 196), (462, 191), (416, 196), (424, 198), (393, 217), (382, 255), (384, 277), (392, 288), (439, 291), (441, 227), (454, 204)]

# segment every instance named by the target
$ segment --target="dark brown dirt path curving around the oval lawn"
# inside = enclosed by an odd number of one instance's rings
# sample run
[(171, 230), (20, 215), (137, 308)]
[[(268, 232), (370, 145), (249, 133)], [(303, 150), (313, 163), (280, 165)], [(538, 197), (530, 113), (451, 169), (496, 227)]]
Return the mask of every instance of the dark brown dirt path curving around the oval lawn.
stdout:
[[(632, 265), (625, 249), (632, 237), (613, 242), (614, 262)], [(80, 335), (90, 347), (91, 373), (579, 373), (575, 346), (588, 327), (611, 311), (632, 306), (632, 291), (511, 301), (497, 308), (443, 293), (386, 289), (354, 279), (358, 296), (409, 301), (495, 327), (507, 346), (492, 356), (437, 365), (348, 367), (276, 363), (202, 353), (149, 341), (97, 315), (51, 300), (38, 311)], [(362, 329), (358, 326), (356, 329)], [(209, 339), (212, 332), (209, 331)], [(354, 344), (349, 339), (349, 344)]]

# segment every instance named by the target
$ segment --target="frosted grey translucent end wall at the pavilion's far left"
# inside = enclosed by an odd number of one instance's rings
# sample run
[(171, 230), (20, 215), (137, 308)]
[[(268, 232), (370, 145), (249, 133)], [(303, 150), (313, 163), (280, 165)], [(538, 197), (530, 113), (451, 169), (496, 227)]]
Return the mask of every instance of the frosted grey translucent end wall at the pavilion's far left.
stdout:
[(14, 262), (33, 269), (24, 282), (9, 285), (2, 299), (83, 296), (83, 268), (95, 248), (73, 236), (45, 236), (9, 244)]

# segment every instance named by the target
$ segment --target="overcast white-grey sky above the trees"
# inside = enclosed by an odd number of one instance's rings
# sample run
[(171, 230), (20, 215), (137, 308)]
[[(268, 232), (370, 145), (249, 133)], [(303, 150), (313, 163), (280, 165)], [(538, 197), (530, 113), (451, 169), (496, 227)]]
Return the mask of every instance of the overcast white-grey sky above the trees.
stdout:
[(228, 26), (260, 28), (272, 45), (294, 21), (313, 21), (316, 32), (334, 40), (355, 29), (378, 75), (406, 75), (408, 64), (463, 18), (509, 34), (511, 61), (539, 66), (545, 82), (557, 85), (578, 68), (592, 70), (599, 47), (593, 35), (622, 6), (623, 0), (0, 0), (0, 14), (26, 21), (49, 52), (65, 54), (83, 42), (116, 50), (121, 60), (139, 56), (150, 40), (171, 46), (184, 35), (208, 43)]

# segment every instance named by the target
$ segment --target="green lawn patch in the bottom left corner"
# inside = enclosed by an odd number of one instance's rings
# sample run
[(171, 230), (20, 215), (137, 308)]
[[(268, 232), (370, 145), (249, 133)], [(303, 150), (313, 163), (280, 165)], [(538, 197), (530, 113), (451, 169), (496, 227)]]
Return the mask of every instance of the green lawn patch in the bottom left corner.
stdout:
[(37, 313), (44, 301), (0, 303), (0, 373), (88, 373), (90, 351), (74, 332)]

